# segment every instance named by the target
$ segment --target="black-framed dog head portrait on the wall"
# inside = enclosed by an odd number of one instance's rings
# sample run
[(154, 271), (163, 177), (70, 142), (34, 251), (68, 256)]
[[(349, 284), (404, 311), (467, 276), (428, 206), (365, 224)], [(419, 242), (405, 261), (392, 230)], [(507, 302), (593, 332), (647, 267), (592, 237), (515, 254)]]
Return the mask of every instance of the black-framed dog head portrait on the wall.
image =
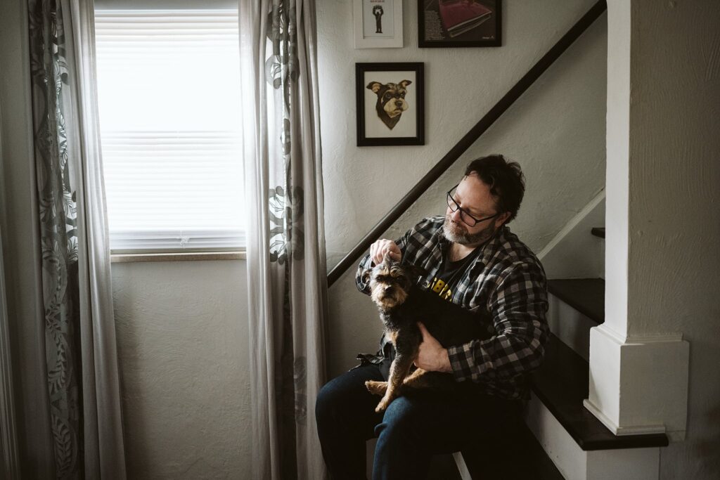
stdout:
[(356, 63), (357, 145), (425, 145), (423, 63)]

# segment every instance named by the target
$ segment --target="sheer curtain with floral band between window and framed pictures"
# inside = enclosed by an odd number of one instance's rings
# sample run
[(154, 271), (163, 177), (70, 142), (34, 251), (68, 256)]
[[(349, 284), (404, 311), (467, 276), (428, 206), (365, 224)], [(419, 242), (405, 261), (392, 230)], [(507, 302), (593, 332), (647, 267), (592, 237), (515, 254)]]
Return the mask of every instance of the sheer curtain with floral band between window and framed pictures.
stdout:
[(253, 479), (322, 479), (327, 310), (315, 2), (240, 0)]

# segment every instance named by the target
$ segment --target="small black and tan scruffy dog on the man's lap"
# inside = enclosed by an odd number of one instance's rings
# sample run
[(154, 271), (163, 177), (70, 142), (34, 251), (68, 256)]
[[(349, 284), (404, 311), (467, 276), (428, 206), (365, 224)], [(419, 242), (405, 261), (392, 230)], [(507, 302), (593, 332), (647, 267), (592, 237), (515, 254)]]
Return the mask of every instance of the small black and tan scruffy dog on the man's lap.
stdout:
[(385, 335), (396, 351), (388, 381), (365, 382), (372, 394), (383, 396), (376, 412), (382, 412), (401, 392), (408, 392), (408, 388), (451, 389), (457, 385), (450, 373), (418, 368), (408, 376), (423, 341), (418, 322), (423, 322), (445, 348), (492, 336), (486, 315), (469, 312), (431, 291), (420, 289), (415, 280), (424, 274), (421, 268), (393, 261), (390, 255), (364, 272), (364, 279), (370, 281), (370, 297), (385, 325)]

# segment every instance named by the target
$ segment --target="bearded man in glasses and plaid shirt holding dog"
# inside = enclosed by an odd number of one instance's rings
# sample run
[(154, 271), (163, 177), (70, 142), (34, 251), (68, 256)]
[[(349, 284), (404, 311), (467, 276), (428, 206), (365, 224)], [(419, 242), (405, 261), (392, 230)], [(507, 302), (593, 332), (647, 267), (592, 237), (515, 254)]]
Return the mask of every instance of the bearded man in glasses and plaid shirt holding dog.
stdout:
[[(377, 240), (356, 276), (382, 261), (413, 263), (428, 271), (426, 289), (492, 318), (492, 338), (444, 348), (424, 327), (415, 365), (450, 373), (462, 388), (452, 394), (399, 397), (384, 414), (364, 382), (387, 380), (392, 344), (328, 382), (318, 394), (316, 418), (323, 457), (333, 479), (365, 478), (365, 441), (377, 437), (374, 479), (423, 479), (435, 453), (462, 450), (517, 425), (528, 396), (528, 372), (537, 368), (548, 338), (545, 273), (535, 255), (506, 226), (515, 218), (525, 185), (521, 168), (502, 155), (472, 161), (447, 194), (444, 217), (415, 225), (399, 240)], [(418, 319), (420, 320), (420, 319)], [(518, 453), (518, 456), (521, 456)], [(519, 458), (518, 458), (519, 460)]]

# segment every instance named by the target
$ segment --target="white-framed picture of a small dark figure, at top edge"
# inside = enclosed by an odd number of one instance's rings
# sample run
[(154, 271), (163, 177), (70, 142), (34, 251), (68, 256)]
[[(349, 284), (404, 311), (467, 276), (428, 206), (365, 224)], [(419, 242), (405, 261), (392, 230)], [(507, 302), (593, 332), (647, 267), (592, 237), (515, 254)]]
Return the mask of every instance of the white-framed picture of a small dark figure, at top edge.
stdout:
[(353, 0), (356, 48), (402, 47), (402, 0)]

